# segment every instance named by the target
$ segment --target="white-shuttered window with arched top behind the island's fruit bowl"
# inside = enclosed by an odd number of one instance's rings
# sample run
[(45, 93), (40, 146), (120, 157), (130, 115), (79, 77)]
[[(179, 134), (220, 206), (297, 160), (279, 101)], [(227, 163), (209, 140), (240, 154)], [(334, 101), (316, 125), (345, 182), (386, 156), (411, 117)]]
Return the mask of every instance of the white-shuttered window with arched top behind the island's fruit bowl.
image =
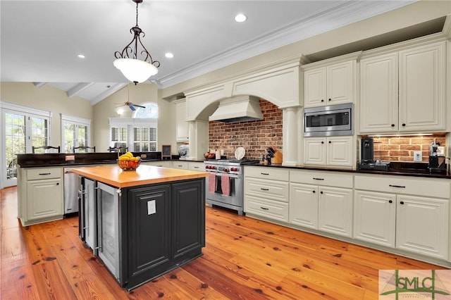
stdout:
[(156, 151), (158, 106), (142, 104), (133, 118), (110, 118), (111, 147), (129, 147), (132, 152)]

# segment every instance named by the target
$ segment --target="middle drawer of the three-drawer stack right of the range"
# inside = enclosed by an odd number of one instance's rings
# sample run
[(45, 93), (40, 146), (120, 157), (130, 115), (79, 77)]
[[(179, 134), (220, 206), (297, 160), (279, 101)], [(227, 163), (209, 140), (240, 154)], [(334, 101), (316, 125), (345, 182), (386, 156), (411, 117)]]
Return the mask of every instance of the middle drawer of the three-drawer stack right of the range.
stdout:
[(289, 183), (277, 180), (245, 178), (245, 194), (261, 195), (276, 201), (288, 202)]

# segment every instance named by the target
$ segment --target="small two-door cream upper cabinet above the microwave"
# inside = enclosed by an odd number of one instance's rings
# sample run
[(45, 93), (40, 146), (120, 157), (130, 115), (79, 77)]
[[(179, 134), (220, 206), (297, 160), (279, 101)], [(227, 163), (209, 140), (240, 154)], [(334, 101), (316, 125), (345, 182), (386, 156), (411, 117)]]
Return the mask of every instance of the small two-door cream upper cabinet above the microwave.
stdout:
[(304, 107), (354, 102), (356, 61), (345, 61), (304, 71)]

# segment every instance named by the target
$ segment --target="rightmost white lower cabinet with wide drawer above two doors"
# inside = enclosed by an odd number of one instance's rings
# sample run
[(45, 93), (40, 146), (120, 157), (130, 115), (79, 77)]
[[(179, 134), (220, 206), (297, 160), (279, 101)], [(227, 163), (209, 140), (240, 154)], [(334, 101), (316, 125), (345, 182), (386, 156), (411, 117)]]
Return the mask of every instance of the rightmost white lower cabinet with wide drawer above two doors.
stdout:
[(356, 175), (354, 185), (355, 239), (449, 258), (449, 180)]

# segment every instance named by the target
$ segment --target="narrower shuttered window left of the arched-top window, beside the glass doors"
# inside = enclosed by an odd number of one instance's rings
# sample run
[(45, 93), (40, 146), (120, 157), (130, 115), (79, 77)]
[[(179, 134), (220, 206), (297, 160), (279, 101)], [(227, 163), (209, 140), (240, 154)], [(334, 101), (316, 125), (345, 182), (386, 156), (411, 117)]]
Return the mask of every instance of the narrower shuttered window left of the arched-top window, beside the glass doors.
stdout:
[(61, 151), (72, 153), (73, 147), (94, 146), (90, 144), (90, 132), (91, 120), (61, 114)]

